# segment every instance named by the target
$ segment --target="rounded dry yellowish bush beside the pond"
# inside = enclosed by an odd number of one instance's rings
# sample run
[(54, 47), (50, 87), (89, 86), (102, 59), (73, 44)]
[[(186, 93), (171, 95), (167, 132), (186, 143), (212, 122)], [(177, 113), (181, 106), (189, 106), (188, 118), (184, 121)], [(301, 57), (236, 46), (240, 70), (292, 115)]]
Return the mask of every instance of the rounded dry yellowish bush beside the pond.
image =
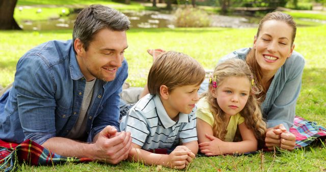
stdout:
[(197, 8), (178, 8), (174, 14), (177, 27), (207, 27), (210, 25), (208, 14)]

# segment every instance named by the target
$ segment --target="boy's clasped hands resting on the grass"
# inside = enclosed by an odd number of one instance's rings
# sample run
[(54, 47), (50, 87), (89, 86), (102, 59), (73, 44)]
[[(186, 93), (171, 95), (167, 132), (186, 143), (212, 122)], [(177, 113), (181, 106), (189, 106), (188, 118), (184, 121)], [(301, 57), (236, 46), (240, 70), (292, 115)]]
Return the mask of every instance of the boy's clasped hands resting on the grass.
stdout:
[[(176, 169), (183, 169), (188, 164), (188, 151), (185, 146), (177, 146), (169, 155), (169, 162), (167, 166)], [(186, 148), (187, 149), (187, 148)], [(192, 161), (192, 158), (190, 159)]]

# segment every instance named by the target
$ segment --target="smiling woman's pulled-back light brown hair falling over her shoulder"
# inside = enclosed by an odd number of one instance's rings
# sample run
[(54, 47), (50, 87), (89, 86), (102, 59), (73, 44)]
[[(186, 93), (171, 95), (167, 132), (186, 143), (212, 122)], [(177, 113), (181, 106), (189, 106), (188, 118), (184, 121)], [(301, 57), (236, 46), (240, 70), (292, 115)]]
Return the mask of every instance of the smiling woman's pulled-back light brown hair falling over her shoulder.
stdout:
[[(294, 42), (295, 35), (296, 35), (295, 21), (293, 20), (292, 16), (290, 16), (289, 14), (282, 13), (282, 12), (279, 12), (279, 11), (268, 13), (260, 20), (259, 25), (258, 25), (256, 38), (258, 38), (264, 22), (269, 21), (269, 20), (283, 21), (283, 22), (287, 23), (290, 27), (292, 27), (291, 46), (293, 46), (293, 42)], [(256, 61), (255, 51), (256, 51), (255, 48), (252, 48), (249, 51), (246, 61), (247, 61), (248, 65), (251, 67), (251, 69), (252, 69), (252, 71), (254, 73), (255, 80), (257, 80), (257, 83), (260, 84), (260, 85), (263, 85), (263, 83), (262, 83), (262, 72), (261, 72), (261, 69), (260, 69), (257, 61)], [(260, 103), (265, 100), (266, 93), (267, 93), (267, 88), (262, 87), (261, 93), (257, 96)]]

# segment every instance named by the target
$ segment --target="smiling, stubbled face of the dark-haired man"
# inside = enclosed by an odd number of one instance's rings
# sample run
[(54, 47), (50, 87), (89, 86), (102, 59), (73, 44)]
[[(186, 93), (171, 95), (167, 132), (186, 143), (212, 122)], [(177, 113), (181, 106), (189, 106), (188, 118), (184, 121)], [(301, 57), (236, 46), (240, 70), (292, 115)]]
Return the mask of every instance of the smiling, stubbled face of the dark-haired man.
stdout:
[(77, 52), (77, 61), (87, 81), (95, 78), (112, 81), (124, 60), (128, 47), (125, 31), (111, 31), (103, 28), (94, 35), (87, 51)]

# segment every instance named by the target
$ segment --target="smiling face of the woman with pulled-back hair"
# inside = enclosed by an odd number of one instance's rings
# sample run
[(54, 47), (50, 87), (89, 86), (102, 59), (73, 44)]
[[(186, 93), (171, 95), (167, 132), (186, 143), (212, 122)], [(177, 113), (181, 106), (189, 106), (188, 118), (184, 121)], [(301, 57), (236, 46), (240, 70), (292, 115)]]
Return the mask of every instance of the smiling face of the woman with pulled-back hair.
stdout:
[(291, 55), (293, 28), (284, 21), (268, 20), (255, 37), (255, 56), (263, 73), (275, 74)]

